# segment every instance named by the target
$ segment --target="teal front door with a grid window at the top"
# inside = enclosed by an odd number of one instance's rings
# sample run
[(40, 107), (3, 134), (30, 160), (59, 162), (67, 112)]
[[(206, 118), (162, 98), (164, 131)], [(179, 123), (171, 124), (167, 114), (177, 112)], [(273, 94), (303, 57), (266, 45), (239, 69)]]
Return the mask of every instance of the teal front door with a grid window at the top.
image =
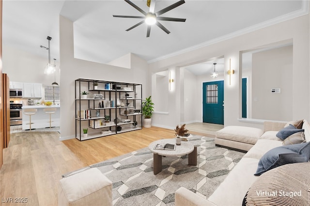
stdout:
[(203, 122), (224, 124), (224, 81), (202, 84)]

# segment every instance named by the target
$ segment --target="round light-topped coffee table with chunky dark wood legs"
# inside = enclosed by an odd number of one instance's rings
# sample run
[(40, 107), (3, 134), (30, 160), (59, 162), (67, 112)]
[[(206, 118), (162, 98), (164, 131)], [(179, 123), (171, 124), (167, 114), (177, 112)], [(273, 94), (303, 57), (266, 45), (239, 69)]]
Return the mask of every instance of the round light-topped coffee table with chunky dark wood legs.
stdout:
[(188, 165), (197, 165), (197, 147), (194, 147), (193, 144), (181, 141), (181, 145), (176, 145), (175, 150), (154, 149), (157, 144), (175, 145), (175, 138), (156, 140), (149, 145), (149, 149), (153, 152), (154, 175), (162, 170), (162, 156), (182, 156), (188, 154)]

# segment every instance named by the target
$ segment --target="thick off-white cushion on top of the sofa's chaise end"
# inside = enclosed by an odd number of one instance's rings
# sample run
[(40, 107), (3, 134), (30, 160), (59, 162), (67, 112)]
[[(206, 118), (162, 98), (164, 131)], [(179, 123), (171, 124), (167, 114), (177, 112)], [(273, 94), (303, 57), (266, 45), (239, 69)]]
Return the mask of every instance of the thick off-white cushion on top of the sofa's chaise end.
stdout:
[(263, 130), (253, 127), (227, 126), (216, 132), (216, 137), (254, 145)]

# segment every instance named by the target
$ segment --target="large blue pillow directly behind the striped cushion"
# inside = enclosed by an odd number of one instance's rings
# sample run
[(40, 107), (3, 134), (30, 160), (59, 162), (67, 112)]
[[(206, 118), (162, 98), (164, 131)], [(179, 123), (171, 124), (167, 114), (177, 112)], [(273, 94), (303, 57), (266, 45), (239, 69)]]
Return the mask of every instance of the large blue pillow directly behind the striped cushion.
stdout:
[(309, 159), (310, 142), (276, 147), (263, 155), (254, 175), (262, 175), (264, 172), (284, 164), (309, 162)]

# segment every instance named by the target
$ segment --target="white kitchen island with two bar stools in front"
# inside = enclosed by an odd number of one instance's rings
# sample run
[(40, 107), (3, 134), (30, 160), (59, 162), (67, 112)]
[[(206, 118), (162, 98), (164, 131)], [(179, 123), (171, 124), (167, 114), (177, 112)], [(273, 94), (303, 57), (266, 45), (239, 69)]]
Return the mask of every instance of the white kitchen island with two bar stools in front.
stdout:
[[(31, 129), (38, 129), (38, 128), (47, 128), (49, 127), (49, 114), (46, 114), (43, 109), (45, 108), (51, 108), (51, 107), (56, 107), (56, 112), (51, 115), (51, 120), (52, 120), (52, 127), (59, 127), (60, 126), (60, 105), (51, 105), (51, 106), (46, 106), (46, 105), (25, 105), (22, 107), (23, 110), (23, 125), (22, 129), (23, 130), (28, 130), (29, 129), (29, 115), (24, 114), (24, 109), (26, 108), (34, 108), (37, 109), (37, 112), (35, 115), (31, 115)], [(28, 123), (28, 124), (27, 124)]]

